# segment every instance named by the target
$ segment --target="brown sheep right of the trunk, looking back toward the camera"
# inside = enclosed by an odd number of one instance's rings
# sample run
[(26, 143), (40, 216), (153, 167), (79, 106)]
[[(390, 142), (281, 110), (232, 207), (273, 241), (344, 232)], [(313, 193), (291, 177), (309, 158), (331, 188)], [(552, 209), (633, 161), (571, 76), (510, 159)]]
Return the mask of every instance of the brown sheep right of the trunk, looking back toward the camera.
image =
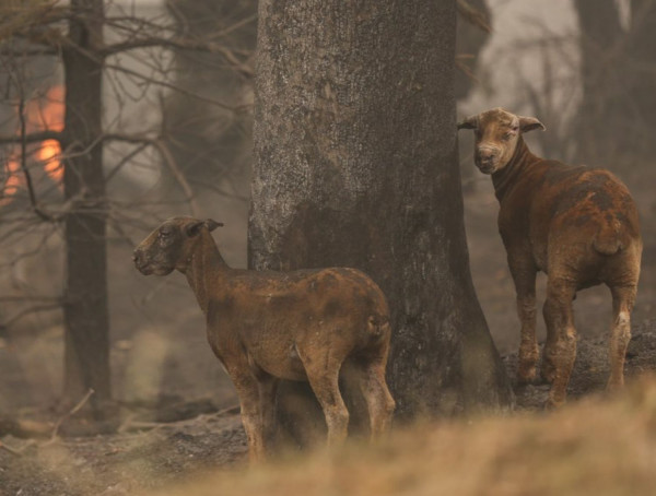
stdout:
[(576, 357), (576, 292), (601, 283), (610, 288), (613, 312), (607, 389), (620, 388), (642, 255), (637, 209), (629, 190), (607, 170), (534, 155), (523, 133), (544, 130), (535, 117), (494, 108), (466, 118), (458, 129), (475, 130), (476, 165), (492, 176), (500, 203), (499, 231), (522, 323), (518, 382), (537, 376), (536, 274), (542, 271), (548, 282), (541, 376), (551, 383), (546, 406), (565, 402)]

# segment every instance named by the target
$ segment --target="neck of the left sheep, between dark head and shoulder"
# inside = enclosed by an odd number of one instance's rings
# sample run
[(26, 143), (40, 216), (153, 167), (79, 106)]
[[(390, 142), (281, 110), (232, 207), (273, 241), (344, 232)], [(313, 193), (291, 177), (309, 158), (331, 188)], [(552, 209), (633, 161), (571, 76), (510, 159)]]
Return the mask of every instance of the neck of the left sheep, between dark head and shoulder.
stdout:
[(207, 315), (210, 295), (212, 291), (216, 291), (218, 281), (225, 276), (230, 268), (221, 257), (212, 235), (203, 232), (200, 236), (201, 239), (187, 263), (185, 275), (196, 295), (198, 305)]

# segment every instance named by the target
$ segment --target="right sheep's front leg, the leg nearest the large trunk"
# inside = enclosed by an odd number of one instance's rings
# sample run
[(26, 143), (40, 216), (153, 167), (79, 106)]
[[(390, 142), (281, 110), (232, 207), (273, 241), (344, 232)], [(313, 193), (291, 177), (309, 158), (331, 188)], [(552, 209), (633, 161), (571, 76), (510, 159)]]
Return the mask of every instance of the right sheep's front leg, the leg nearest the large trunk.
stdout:
[(517, 316), (522, 322), (517, 381), (519, 383), (532, 382), (537, 376), (536, 367), (539, 358), (536, 338), (537, 270), (532, 262), (511, 255), (508, 255), (508, 265), (517, 293)]

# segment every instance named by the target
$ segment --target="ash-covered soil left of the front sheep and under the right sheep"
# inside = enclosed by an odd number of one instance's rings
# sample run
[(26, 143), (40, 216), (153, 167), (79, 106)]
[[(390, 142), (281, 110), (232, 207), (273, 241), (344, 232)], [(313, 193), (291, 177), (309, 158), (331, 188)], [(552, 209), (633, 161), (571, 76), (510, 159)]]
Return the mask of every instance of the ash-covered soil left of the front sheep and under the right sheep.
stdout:
[[(504, 363), (513, 377), (516, 355), (505, 356)], [(634, 327), (626, 356), (629, 381), (649, 370), (656, 370), (656, 321)], [(606, 341), (581, 339), (570, 400), (604, 390), (607, 377)], [(517, 387), (515, 393), (518, 411), (541, 411), (548, 386)], [(200, 404), (209, 410), (206, 403)], [(194, 409), (198, 409), (198, 403), (185, 414)], [(117, 434), (61, 436), (55, 440), (4, 436), (2, 444), (15, 452), (0, 449), (0, 494), (130, 495), (246, 462), (246, 438), (236, 409), (178, 422), (161, 421), (145, 422), (133, 416), (124, 421), (124, 432)]]

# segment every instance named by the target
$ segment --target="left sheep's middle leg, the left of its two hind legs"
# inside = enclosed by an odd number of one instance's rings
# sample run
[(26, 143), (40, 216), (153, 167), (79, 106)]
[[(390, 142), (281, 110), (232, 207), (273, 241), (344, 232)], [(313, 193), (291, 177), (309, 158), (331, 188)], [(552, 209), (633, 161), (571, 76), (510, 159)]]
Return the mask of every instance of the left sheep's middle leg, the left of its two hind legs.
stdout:
[(300, 353), (307, 380), (319, 401), (328, 425), (328, 446), (339, 446), (347, 437), (349, 411), (339, 391), (341, 361), (330, 354), (307, 357)]

